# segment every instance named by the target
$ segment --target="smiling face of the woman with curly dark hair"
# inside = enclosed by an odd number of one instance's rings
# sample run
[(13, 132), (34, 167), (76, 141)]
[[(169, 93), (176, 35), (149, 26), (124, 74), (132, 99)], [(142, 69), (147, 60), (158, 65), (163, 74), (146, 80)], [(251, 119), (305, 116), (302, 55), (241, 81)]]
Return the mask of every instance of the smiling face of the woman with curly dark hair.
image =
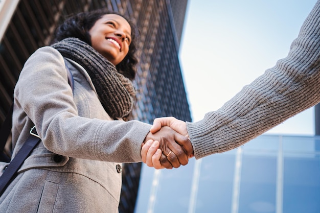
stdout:
[(89, 30), (92, 47), (114, 65), (127, 55), (131, 42), (128, 21), (117, 14), (105, 14)]

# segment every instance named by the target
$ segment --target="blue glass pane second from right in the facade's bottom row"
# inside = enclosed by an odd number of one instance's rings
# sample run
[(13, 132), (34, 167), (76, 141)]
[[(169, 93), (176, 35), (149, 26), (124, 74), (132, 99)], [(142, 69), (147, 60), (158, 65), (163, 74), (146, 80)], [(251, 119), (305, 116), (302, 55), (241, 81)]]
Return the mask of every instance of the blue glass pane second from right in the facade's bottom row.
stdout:
[[(269, 154), (268, 154), (269, 155)], [(275, 212), (277, 156), (242, 156), (239, 213)]]

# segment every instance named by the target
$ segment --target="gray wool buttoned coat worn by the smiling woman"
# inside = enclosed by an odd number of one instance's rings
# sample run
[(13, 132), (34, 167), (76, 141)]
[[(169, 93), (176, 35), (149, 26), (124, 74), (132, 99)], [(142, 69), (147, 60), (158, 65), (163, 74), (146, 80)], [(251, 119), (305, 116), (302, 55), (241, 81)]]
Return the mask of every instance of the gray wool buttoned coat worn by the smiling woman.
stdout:
[[(41, 143), (0, 197), (0, 212), (118, 212), (121, 163), (141, 161), (151, 125), (113, 121), (86, 70), (45, 46), (26, 62), (14, 90), (14, 153), (35, 125)], [(5, 164), (0, 169), (3, 170)]]

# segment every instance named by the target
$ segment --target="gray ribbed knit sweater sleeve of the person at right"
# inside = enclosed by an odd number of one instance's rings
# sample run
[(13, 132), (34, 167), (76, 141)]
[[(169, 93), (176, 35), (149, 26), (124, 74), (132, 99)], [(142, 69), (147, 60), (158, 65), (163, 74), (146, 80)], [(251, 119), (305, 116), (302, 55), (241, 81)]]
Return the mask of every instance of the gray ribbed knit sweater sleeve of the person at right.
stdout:
[(195, 157), (225, 152), (320, 102), (320, 0), (306, 18), (288, 56), (220, 109), (187, 122)]

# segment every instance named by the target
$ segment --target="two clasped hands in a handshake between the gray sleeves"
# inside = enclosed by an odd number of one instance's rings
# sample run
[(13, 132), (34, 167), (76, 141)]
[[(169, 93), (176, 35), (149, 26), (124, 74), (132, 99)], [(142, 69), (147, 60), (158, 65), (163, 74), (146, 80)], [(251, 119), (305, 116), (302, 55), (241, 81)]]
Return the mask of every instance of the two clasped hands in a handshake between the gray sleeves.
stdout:
[(155, 119), (141, 148), (142, 161), (155, 169), (186, 165), (193, 157), (193, 147), (186, 122), (174, 117)]

